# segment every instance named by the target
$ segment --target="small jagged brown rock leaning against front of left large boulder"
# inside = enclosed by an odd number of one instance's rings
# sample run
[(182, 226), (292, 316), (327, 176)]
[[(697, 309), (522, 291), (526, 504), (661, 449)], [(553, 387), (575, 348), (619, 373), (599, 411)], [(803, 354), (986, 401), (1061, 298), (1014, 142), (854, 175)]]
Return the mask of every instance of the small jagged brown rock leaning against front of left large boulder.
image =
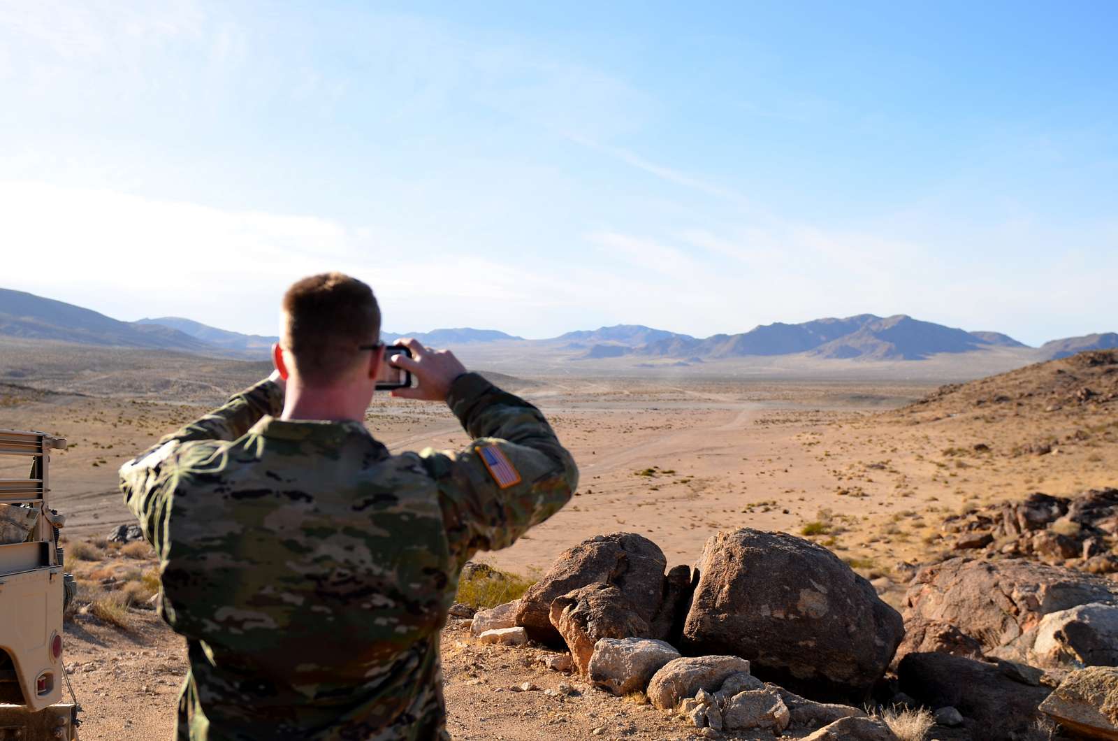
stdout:
[(601, 638), (648, 635), (642, 618), (622, 590), (596, 582), (551, 601), (551, 625), (559, 631), (580, 674), (586, 674), (594, 645)]

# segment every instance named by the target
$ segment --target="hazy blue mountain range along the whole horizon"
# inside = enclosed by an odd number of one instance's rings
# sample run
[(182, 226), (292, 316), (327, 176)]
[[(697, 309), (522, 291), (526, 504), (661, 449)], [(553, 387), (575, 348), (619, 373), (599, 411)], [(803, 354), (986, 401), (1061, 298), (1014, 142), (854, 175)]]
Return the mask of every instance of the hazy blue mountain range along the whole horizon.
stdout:
[[(1067, 357), (1087, 349), (1118, 347), (1118, 334), (1105, 332), (1055, 339), (1039, 349), (1007, 335), (967, 331), (920, 321), (907, 315), (864, 313), (788, 325), (776, 322), (736, 335), (697, 338), (643, 325), (616, 325), (570, 331), (542, 340), (525, 340), (494, 329), (436, 329), (389, 332), (386, 338), (416, 337), (436, 347), (487, 343), (519, 343), (571, 354), (574, 359), (737, 358), (806, 354), (824, 359), (920, 360), (941, 353), (960, 354), (992, 348), (1029, 350), (1035, 359)], [(244, 335), (181, 317), (121, 321), (70, 303), (0, 289), (0, 336), (83, 345), (180, 350), (196, 354), (260, 358), (276, 337)]]

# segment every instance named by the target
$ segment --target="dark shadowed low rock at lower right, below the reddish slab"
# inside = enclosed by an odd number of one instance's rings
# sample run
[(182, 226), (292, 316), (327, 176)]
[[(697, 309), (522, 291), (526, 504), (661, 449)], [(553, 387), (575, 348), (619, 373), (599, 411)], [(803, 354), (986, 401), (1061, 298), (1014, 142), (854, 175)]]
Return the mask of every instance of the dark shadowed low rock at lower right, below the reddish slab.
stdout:
[(957, 709), (989, 741), (1029, 731), (1051, 692), (1011, 679), (993, 664), (948, 654), (909, 654), (897, 669), (901, 691), (928, 707)]

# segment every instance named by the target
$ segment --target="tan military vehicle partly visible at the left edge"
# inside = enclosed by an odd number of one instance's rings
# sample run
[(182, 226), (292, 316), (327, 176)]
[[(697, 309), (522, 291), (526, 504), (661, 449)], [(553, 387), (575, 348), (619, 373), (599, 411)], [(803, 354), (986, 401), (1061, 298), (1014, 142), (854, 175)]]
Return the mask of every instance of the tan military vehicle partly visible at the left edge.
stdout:
[[(76, 592), (63, 571), (50, 508), (50, 451), (66, 441), (42, 432), (0, 430), (0, 741), (77, 740), (78, 704), (63, 664), (63, 612)], [(72, 702), (63, 702), (63, 685)]]

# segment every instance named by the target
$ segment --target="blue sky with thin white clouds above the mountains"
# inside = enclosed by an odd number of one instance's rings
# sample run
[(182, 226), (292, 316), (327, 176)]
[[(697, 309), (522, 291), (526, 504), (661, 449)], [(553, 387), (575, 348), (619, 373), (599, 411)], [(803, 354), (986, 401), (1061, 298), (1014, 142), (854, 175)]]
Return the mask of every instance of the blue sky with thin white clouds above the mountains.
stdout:
[(1112, 2), (6, 2), (0, 285), (271, 332), (1118, 329)]

